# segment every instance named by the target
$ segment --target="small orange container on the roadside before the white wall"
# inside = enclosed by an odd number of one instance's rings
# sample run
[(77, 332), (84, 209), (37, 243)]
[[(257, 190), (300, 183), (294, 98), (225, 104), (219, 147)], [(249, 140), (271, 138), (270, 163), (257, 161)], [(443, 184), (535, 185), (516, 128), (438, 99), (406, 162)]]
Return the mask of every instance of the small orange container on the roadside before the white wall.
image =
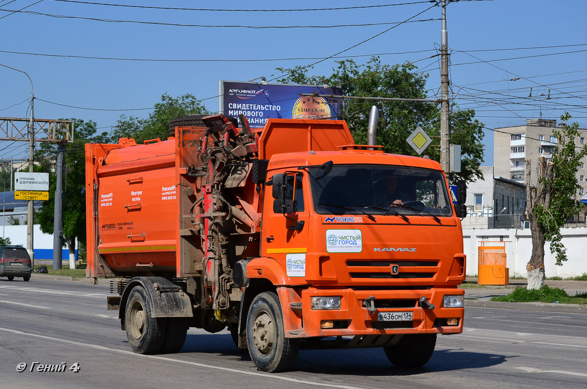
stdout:
[(479, 285), (510, 285), (504, 241), (483, 241), (478, 251)]

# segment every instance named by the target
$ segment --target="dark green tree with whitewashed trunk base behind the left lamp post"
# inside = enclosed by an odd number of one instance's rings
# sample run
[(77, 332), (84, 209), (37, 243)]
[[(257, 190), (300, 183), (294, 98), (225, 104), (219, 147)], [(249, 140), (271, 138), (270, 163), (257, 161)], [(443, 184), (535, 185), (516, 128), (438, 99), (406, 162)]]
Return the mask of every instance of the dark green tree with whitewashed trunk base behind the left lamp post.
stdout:
[[(75, 269), (75, 243), (86, 241), (86, 195), (85, 195), (85, 153), (84, 144), (108, 143), (107, 133), (97, 134), (95, 121), (73, 120), (75, 126), (74, 141), (65, 146), (63, 157), (63, 239), (69, 250), (69, 267)], [(53, 234), (57, 146), (42, 143), (36, 152), (35, 160), (41, 165), (37, 171), (49, 172), (49, 199), (35, 213), (35, 220), (45, 234)]]

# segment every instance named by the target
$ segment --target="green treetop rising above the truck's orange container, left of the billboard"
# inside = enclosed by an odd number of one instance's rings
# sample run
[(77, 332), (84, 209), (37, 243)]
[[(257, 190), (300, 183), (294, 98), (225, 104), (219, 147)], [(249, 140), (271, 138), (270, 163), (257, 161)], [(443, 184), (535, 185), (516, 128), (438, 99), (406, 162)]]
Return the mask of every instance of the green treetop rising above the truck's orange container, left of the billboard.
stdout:
[(161, 102), (154, 105), (153, 111), (147, 118), (121, 115), (113, 128), (112, 138), (130, 137), (137, 144), (144, 140), (168, 137), (169, 121), (174, 117), (188, 116), (189, 114), (209, 113), (193, 94), (187, 93), (179, 97), (171, 97), (167, 93), (161, 95)]

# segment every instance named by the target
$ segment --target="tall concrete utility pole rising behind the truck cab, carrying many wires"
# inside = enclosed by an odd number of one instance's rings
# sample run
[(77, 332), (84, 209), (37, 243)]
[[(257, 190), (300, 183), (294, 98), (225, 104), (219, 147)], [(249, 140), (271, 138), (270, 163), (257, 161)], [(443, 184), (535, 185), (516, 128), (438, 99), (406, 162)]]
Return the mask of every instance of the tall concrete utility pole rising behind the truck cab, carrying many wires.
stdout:
[(440, 167), (449, 172), (448, 122), (448, 32), (446, 29), (446, 0), (442, 0), (442, 32), (440, 42)]

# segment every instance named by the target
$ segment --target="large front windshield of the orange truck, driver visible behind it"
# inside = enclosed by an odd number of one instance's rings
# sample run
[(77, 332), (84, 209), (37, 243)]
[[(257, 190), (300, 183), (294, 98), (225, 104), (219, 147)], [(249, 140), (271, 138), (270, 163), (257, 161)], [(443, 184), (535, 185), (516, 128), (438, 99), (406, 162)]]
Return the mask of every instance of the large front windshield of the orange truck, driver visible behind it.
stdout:
[[(312, 175), (311, 168), (310, 175)], [(437, 170), (394, 165), (334, 165), (310, 179), (318, 214), (450, 216), (453, 208), (444, 175)]]

